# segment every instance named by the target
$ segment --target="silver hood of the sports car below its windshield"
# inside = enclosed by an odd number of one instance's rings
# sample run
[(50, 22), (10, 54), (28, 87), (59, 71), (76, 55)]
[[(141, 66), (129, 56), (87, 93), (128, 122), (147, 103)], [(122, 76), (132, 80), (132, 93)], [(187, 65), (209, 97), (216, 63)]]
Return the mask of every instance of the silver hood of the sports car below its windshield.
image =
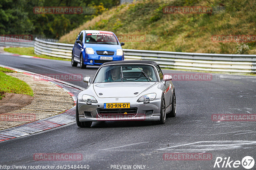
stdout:
[(154, 84), (156, 82), (105, 82), (93, 84), (93, 89), (100, 98), (137, 97)]

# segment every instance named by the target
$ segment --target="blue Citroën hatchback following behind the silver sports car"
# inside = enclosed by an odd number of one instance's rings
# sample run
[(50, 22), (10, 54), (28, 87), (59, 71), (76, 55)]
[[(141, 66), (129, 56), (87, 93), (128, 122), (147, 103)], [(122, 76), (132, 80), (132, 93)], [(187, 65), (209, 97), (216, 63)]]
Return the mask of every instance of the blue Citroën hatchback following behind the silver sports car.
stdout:
[(76, 67), (80, 63), (80, 68), (85, 68), (87, 65), (124, 60), (123, 45), (113, 32), (83, 30), (76, 37), (71, 65)]

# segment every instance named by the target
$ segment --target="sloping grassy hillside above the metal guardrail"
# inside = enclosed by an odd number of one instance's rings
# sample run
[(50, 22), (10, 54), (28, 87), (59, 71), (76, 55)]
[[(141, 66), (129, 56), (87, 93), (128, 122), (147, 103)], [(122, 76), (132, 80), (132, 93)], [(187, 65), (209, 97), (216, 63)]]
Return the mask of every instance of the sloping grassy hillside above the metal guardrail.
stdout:
[[(164, 6), (222, 6), (214, 14), (164, 14)], [(255, 35), (255, 0), (143, 0), (117, 6), (60, 38), (73, 44), (81, 30), (106, 30), (116, 35), (144, 35), (144, 42), (125, 42), (123, 48), (193, 53), (256, 54), (256, 43), (213, 42), (213, 35)], [(106, 16), (108, 18), (106, 18)]]

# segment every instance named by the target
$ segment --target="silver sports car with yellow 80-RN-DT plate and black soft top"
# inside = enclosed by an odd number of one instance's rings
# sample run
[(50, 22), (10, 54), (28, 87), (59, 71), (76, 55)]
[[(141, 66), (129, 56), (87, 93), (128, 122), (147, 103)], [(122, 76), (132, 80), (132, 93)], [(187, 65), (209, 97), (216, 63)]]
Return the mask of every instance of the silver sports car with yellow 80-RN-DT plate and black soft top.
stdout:
[(154, 61), (104, 63), (88, 87), (78, 94), (76, 123), (90, 127), (93, 121), (155, 121), (164, 124), (166, 114), (176, 116), (171, 75), (163, 75)]

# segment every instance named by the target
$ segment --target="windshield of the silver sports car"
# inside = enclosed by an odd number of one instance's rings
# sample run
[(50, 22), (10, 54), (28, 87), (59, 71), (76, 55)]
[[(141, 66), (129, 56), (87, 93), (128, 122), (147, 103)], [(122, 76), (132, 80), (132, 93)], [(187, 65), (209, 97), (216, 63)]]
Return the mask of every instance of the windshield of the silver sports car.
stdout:
[(157, 81), (156, 72), (152, 66), (133, 64), (105, 66), (100, 68), (94, 83), (121, 81)]

